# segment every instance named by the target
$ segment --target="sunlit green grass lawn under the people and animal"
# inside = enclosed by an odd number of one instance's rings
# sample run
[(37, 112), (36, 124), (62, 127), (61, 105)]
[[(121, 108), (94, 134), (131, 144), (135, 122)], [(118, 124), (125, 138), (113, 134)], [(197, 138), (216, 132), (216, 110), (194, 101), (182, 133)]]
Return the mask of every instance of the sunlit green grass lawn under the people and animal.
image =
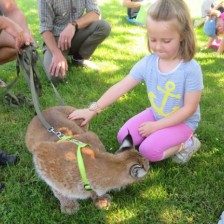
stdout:
[[(192, 0), (193, 2), (196, 2)], [(38, 15), (35, 0), (20, 0), (35, 39), (38, 34)], [(145, 30), (126, 22), (126, 10), (120, 1), (101, 1), (103, 18), (112, 25), (111, 35), (97, 48), (93, 60), (100, 72), (70, 68), (67, 81), (57, 89), (66, 104), (82, 108), (95, 101), (122, 79), (144, 55), (147, 47)], [(204, 74), (204, 91), (201, 100), (202, 121), (197, 135), (201, 150), (186, 165), (171, 160), (151, 164), (147, 177), (126, 189), (112, 192), (109, 210), (97, 210), (90, 200), (81, 201), (81, 209), (72, 216), (60, 213), (59, 203), (49, 187), (42, 182), (26, 150), (24, 136), (34, 109), (26, 106), (12, 108), (0, 102), (0, 147), (9, 153), (18, 153), (20, 162), (5, 167), (0, 181), (6, 189), (0, 193), (1, 224), (215, 224), (224, 210), (224, 58), (212, 50), (203, 50), (207, 38), (202, 28), (196, 29), (198, 52), (195, 59)], [(56, 97), (41, 70), (43, 96), (41, 109), (57, 105)], [(1, 66), (0, 77), (9, 83), (16, 76), (15, 62)], [(21, 79), (15, 93), (30, 96), (27, 84)], [(0, 89), (0, 99), (4, 90)], [(122, 124), (148, 106), (145, 86), (139, 85), (91, 121), (108, 151), (118, 148), (116, 134)]]

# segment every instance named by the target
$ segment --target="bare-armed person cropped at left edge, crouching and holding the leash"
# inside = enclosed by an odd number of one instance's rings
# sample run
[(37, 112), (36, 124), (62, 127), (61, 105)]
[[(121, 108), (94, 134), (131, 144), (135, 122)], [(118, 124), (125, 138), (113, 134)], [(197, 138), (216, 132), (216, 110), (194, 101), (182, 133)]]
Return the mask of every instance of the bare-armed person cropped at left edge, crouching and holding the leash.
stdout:
[[(25, 15), (16, 1), (0, 0), (0, 65), (15, 60), (21, 47), (32, 42)], [(2, 80), (0, 87), (6, 87)]]

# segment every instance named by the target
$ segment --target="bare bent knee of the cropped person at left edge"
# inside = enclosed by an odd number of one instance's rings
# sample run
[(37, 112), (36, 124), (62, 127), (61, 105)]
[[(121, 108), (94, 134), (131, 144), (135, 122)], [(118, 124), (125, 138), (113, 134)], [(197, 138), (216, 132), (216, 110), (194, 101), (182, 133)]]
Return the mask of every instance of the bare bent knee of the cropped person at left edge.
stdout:
[(5, 31), (0, 33), (0, 64), (16, 59), (15, 40)]

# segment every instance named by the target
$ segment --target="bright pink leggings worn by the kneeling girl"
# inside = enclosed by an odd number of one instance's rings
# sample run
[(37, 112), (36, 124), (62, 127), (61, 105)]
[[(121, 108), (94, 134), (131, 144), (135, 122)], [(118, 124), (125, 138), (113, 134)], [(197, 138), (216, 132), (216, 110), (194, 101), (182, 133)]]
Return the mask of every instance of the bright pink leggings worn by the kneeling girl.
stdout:
[(155, 121), (150, 108), (129, 119), (119, 130), (117, 138), (121, 144), (129, 133), (132, 136), (134, 145), (139, 145), (139, 152), (150, 162), (163, 160), (164, 152), (167, 149), (186, 142), (193, 134), (191, 128), (181, 123), (161, 129), (144, 138), (138, 133), (138, 128), (140, 124), (147, 121)]

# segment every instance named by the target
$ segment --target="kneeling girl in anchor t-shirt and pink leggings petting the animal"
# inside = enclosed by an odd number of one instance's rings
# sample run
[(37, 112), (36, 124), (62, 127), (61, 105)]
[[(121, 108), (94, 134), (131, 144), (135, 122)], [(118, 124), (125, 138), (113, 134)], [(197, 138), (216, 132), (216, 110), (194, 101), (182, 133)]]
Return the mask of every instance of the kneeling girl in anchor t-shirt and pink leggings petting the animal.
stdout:
[(158, 0), (148, 10), (148, 47), (152, 54), (140, 60), (123, 80), (107, 90), (90, 108), (75, 110), (68, 119), (83, 118), (85, 125), (96, 114), (142, 80), (151, 104), (128, 120), (118, 133), (122, 143), (128, 134), (149, 161), (173, 157), (185, 163), (200, 148), (193, 136), (200, 121), (202, 72), (192, 59), (195, 36), (183, 0)]

